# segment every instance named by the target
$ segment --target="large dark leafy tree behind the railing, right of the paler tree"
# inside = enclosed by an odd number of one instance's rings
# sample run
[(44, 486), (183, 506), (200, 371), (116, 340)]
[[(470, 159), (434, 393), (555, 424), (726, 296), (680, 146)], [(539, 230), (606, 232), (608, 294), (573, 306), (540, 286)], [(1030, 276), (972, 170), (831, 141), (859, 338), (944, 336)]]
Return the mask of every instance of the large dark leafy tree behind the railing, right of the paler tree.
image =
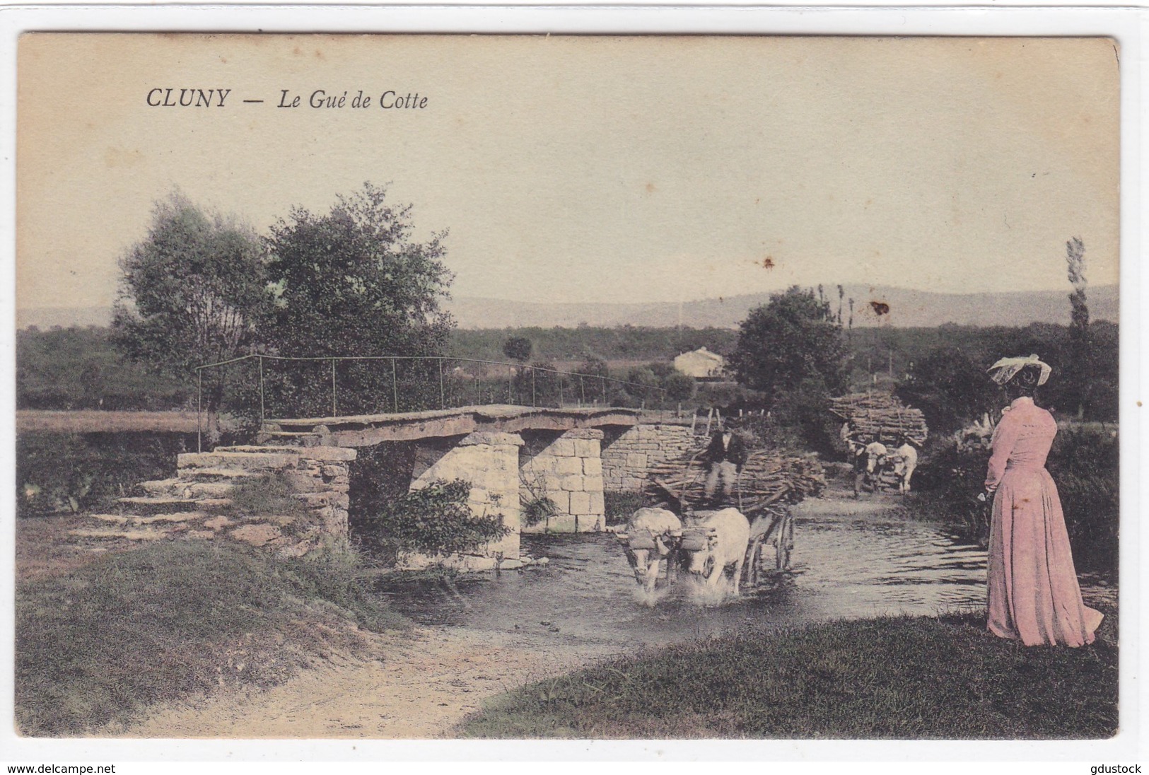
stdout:
[[(453, 327), (440, 302), (453, 279), (442, 259), (446, 232), (411, 238), (410, 205), (392, 205), (385, 186), (363, 184), (330, 213), (295, 208), (271, 227), (269, 278), (277, 300), (268, 340), (291, 356), (440, 355)], [(433, 361), (337, 363), (341, 412), (438, 404)], [(330, 362), (278, 375), (282, 410), (324, 410), (332, 402)], [(398, 385), (393, 385), (393, 379)], [(433, 396), (432, 396), (433, 394)], [(433, 400), (432, 400), (433, 399)]]

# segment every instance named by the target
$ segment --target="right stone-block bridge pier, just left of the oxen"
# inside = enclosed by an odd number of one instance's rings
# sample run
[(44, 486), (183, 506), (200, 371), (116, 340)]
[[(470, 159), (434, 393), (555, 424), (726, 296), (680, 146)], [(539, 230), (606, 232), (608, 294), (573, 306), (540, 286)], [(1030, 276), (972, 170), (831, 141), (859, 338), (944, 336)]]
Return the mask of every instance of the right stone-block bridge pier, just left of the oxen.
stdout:
[(557, 513), (523, 532), (592, 532), (606, 527), (602, 499), (603, 432), (532, 433), (520, 454), (520, 496), (547, 497)]

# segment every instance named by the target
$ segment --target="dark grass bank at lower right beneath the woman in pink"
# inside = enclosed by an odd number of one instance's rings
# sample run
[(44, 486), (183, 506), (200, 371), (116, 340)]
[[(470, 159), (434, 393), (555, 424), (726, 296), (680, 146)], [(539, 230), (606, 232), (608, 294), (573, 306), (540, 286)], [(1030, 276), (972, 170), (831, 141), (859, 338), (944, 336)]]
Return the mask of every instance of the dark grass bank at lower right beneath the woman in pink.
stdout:
[[(1112, 627), (1112, 623), (1106, 623)], [(978, 615), (730, 635), (502, 695), (465, 721), (502, 738), (1102, 738), (1117, 650), (1026, 649)]]

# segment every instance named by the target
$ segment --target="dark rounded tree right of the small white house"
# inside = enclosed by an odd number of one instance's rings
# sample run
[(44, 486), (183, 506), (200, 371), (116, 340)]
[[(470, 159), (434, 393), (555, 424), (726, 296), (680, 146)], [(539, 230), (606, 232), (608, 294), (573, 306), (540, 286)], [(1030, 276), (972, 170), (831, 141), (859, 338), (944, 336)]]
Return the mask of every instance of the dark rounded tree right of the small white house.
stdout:
[(750, 310), (739, 327), (731, 365), (741, 384), (766, 393), (772, 402), (778, 392), (809, 381), (840, 392), (846, 386), (845, 359), (841, 327), (828, 302), (795, 285)]

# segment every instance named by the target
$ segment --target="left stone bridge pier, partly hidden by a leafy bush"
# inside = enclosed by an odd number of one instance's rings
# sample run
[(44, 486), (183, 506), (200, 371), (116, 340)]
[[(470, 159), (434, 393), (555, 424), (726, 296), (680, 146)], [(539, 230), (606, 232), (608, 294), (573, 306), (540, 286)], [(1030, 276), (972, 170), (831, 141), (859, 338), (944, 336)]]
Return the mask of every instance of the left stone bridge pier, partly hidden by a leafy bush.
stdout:
[(523, 438), (517, 433), (477, 431), (463, 439), (442, 438), (421, 442), (415, 451), (411, 490), (419, 490), (437, 479), (465, 479), (471, 483), (468, 505), (478, 516), (502, 515), (511, 529), (506, 538), (487, 544), (473, 554), (429, 557), (407, 553), (400, 557), (400, 568), (423, 568), (445, 562), (463, 570), (495, 567), (500, 560), (519, 559), (518, 448)]

